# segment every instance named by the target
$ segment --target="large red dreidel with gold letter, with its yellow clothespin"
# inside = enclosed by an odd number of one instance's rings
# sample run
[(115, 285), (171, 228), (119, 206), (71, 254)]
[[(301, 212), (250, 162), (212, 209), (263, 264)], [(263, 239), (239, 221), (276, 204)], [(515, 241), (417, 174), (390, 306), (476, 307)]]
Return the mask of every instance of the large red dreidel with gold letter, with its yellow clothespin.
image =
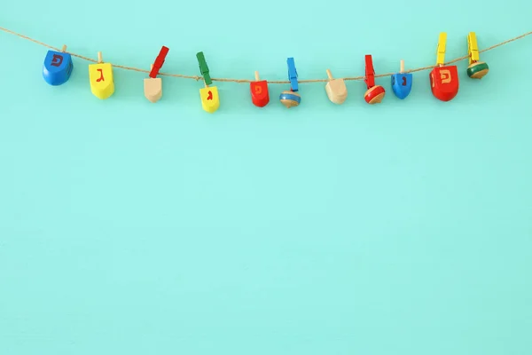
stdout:
[(436, 50), (436, 67), (430, 72), (430, 87), (436, 99), (450, 101), (458, 94), (457, 66), (444, 66), (447, 33), (442, 32)]

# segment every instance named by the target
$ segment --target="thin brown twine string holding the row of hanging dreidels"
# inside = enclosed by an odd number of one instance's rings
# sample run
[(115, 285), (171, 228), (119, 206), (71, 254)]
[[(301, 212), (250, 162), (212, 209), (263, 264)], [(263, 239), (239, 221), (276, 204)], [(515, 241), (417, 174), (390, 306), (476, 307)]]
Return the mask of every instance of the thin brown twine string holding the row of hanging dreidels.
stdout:
[[(18, 36), (20, 38), (27, 39), (28, 41), (31, 41), (33, 43), (40, 44), (43, 47), (50, 48), (53, 51), (61, 51), (61, 50), (59, 50), (59, 48), (53, 47), (50, 44), (46, 44), (46, 43), (37, 41), (34, 38), (21, 35), (20, 33), (14, 32), (11, 29), (1, 28), (0, 27), (0, 30), (4, 31), (5, 33), (11, 34), (13, 36)], [(532, 31), (524, 33), (524, 34), (522, 34), (520, 36), (517, 36), (517, 37), (513, 37), (513, 38), (508, 39), (508, 40), (506, 40), (504, 42), (492, 45), (491, 47), (488, 47), (486, 49), (483, 49), (483, 50), (479, 51), (479, 53), (482, 53), (484, 51), (494, 50), (497, 47), (500, 47), (500, 46), (505, 45), (507, 43), (511, 43), (511, 42), (520, 40), (520, 39), (522, 39), (522, 38), (524, 38), (526, 36), (529, 36), (529, 35), (532, 35)], [(93, 62), (93, 63), (98, 63), (98, 60), (96, 60), (96, 59), (91, 59), (89, 57), (84, 57), (84, 56), (82, 56), (80, 54), (76, 54), (76, 53), (73, 53), (73, 52), (70, 52), (70, 51), (65, 51), (65, 52), (70, 54), (73, 57), (84, 59), (84, 60), (87, 60), (87, 61), (90, 61), (90, 62)], [(452, 59), (452, 60), (446, 62), (445, 65), (450, 65), (450, 64), (453, 64), (453, 63), (457, 63), (458, 61), (462, 61), (462, 60), (465, 60), (465, 59), (468, 59), (468, 58), (469, 58), (469, 56), (466, 55), (464, 57), (460, 57), (460, 58), (457, 58), (457, 59)], [(112, 66), (113, 67), (120, 67), (121, 69), (125, 69), (125, 70), (132, 70), (132, 71), (136, 71), (136, 72), (140, 72), (140, 73), (150, 74), (150, 70), (145, 70), (145, 69), (141, 69), (141, 68), (138, 68), (138, 67), (119, 66), (119, 65), (116, 65), (116, 64), (112, 64)], [(420, 72), (420, 71), (424, 71), (424, 70), (430, 70), (432, 68), (434, 68), (434, 66), (418, 67), (418, 68), (415, 68), (415, 69), (405, 70), (403, 73), (416, 73), (416, 72)], [(379, 75), (375, 75), (375, 77), (376, 78), (385, 77), (385, 76), (391, 76), (391, 75), (394, 75), (394, 74), (395, 73), (379, 74)], [(181, 74), (170, 74), (170, 73), (159, 73), (158, 75), (172, 76), (172, 77), (178, 77), (178, 78), (184, 78), (184, 79), (194, 79), (196, 81), (203, 80), (202, 76), (197, 76), (197, 75), (181, 75)], [(352, 76), (352, 77), (345, 77), (345, 78), (341, 78), (341, 79), (343, 79), (343, 80), (364, 80), (365, 76)], [(211, 80), (213, 82), (226, 82), (226, 83), (253, 83), (254, 82), (254, 80), (250, 80), (250, 79), (231, 79), (231, 78), (211, 78)], [(329, 81), (329, 79), (309, 79), (309, 80), (298, 80), (298, 83), (327, 83), (328, 81)], [(288, 82), (288, 81), (270, 81), (269, 80), (268, 83), (290, 83), (290, 82)]]

